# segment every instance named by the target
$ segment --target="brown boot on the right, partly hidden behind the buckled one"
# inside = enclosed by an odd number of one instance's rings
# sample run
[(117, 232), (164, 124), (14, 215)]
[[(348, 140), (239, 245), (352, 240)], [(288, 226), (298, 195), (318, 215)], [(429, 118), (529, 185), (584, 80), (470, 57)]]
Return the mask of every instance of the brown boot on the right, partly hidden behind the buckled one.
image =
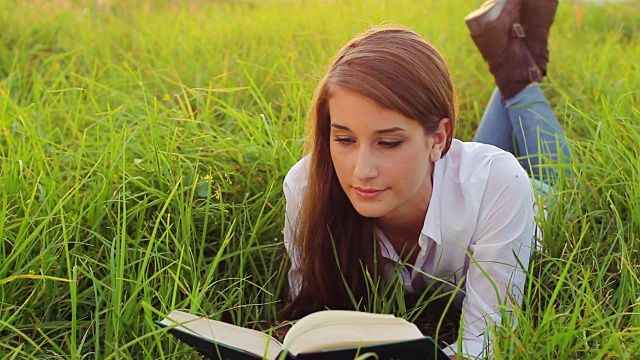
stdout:
[(549, 29), (553, 24), (553, 18), (558, 8), (558, 0), (523, 0), (520, 18), (522, 26), (527, 32), (524, 39), (527, 49), (533, 60), (542, 71), (542, 76), (547, 75), (547, 63), (549, 63)]

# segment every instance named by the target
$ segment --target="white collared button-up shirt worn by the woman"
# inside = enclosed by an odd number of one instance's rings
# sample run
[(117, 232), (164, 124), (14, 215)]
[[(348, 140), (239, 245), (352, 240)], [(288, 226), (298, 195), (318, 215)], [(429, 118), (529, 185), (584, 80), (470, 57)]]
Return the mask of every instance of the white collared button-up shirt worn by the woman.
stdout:
[[(294, 297), (303, 279), (291, 241), (308, 164), (308, 157), (303, 158), (284, 180), (284, 242), (292, 260), (289, 284)], [(390, 241), (377, 233), (382, 255), (400, 263)], [(408, 292), (424, 290), (434, 277), (449, 283), (444, 290), (459, 288), (454, 301), (462, 308), (462, 344), (451, 344), (445, 349), (448, 355), (458, 353), (459, 345), (466, 357), (491, 353), (488, 327), (501, 323), (502, 314), (521, 303), (533, 233), (532, 185), (515, 157), (491, 145), (454, 139), (434, 166), (418, 257), (400, 272)]]

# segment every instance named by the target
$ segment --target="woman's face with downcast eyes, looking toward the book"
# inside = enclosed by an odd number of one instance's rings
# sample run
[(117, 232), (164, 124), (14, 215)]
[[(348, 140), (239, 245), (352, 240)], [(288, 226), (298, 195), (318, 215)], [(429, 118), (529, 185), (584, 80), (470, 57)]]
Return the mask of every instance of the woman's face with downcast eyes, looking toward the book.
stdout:
[(329, 99), (331, 158), (356, 211), (392, 223), (424, 217), (433, 162), (446, 141), (440, 128), (447, 121), (428, 135), (416, 120), (350, 90), (334, 90)]

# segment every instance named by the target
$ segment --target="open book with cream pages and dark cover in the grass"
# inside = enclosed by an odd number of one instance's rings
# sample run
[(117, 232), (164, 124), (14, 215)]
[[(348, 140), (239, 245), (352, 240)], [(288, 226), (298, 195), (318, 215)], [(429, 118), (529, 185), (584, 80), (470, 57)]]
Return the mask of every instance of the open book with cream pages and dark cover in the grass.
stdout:
[(298, 320), (283, 343), (257, 330), (172, 311), (156, 324), (210, 359), (448, 359), (430, 337), (393, 315), (326, 310)]

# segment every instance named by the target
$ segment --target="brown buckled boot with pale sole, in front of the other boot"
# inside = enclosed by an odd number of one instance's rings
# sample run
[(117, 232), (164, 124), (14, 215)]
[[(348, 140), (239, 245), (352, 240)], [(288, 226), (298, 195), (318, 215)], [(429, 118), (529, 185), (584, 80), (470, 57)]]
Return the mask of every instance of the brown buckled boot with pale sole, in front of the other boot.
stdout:
[(520, 7), (521, 0), (489, 0), (464, 19), (505, 99), (542, 78), (524, 42)]

